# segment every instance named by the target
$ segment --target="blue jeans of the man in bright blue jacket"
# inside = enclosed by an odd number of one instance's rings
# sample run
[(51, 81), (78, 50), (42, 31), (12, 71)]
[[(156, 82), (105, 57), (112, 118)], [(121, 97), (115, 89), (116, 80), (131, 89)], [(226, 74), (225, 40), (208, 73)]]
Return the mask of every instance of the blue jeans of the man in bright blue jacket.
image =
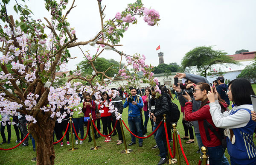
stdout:
[[(137, 129), (137, 136), (142, 137), (142, 130), (141, 130), (141, 121), (140, 116), (130, 117), (128, 116), (128, 125), (132, 133), (135, 134), (135, 129)], [(131, 134), (131, 141), (136, 143), (135, 136)], [(142, 143), (143, 140), (139, 138), (139, 143)]]

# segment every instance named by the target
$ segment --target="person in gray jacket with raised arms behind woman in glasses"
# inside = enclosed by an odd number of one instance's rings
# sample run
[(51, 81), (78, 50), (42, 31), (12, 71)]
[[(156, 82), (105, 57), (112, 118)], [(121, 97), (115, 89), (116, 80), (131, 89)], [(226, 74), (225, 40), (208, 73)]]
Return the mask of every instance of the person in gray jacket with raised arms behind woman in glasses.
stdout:
[[(199, 76), (199, 75), (194, 75), (194, 74), (189, 74), (189, 73), (177, 73), (175, 75), (175, 77), (186, 78), (187, 80), (192, 81), (192, 83), (194, 83), (194, 84), (197, 84), (199, 82), (205, 82), (205, 83), (210, 85), (210, 83), (207, 80), (207, 78), (205, 78), (203, 76)], [(191, 87), (192, 85), (193, 84), (191, 84), (191, 85), (189, 84), (189, 85), (186, 86), (186, 88)], [(187, 100), (181, 94), (180, 84), (178, 83), (178, 87), (173, 85), (173, 89), (175, 89), (176, 92), (177, 92), (177, 96), (178, 96), (180, 105), (184, 107), (185, 103), (187, 102)], [(193, 100), (193, 98), (192, 98), (192, 100)], [(192, 103), (193, 103), (192, 112), (195, 112), (195, 111), (197, 111), (200, 108), (201, 102), (192, 101)], [(195, 130), (195, 136), (196, 136), (196, 139), (198, 141), (198, 146), (199, 146), (199, 149), (200, 149), (200, 152), (201, 152), (201, 147), (203, 146), (203, 142), (202, 142), (201, 135), (200, 135), (200, 132), (199, 132), (198, 121), (192, 121), (192, 123), (193, 123), (194, 130)], [(201, 152), (201, 154), (203, 154), (203, 153)]]

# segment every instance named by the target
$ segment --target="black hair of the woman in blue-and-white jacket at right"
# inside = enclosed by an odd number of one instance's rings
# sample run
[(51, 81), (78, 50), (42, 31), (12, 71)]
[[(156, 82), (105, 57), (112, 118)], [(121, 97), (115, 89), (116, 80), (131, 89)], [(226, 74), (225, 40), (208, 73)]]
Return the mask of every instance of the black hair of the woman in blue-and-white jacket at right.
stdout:
[(250, 95), (255, 95), (255, 92), (253, 91), (250, 81), (245, 78), (236, 78), (230, 81), (229, 86), (230, 85), (232, 100), (236, 106), (252, 104)]

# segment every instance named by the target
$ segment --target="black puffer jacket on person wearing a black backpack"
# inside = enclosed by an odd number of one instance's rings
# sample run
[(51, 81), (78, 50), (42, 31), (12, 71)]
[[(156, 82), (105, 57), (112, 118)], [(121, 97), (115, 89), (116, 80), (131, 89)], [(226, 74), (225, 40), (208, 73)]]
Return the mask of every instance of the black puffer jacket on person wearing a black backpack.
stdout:
[(167, 115), (169, 113), (170, 100), (170, 96), (166, 93), (162, 93), (162, 95), (158, 99), (155, 99), (155, 109), (152, 109), (151, 112), (154, 113), (155, 117), (157, 117), (157, 124), (161, 122), (164, 114)]

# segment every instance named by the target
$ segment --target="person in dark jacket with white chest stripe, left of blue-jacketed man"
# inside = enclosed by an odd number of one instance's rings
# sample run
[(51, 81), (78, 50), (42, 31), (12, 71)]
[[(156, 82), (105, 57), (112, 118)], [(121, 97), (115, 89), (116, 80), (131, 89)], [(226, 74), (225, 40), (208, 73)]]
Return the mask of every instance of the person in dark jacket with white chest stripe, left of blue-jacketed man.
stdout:
[[(119, 97), (119, 95), (116, 95), (115, 97), (114, 96), (114, 92), (117, 92), (117, 89), (116, 88), (111, 88), (111, 96), (112, 96), (112, 104), (114, 106), (114, 108), (117, 108), (117, 112), (122, 114), (122, 111), (124, 109), (124, 106), (123, 106), (123, 103), (122, 103), (122, 98)], [(113, 120), (113, 123), (116, 123), (116, 115), (115, 115), (115, 112), (112, 113), (112, 120)], [(116, 131), (118, 133), (118, 141), (116, 143), (116, 145), (120, 145), (123, 143), (123, 137), (122, 137), (122, 131), (121, 131), (121, 127), (120, 127), (120, 122), (118, 121), (117, 124), (116, 124)]]

